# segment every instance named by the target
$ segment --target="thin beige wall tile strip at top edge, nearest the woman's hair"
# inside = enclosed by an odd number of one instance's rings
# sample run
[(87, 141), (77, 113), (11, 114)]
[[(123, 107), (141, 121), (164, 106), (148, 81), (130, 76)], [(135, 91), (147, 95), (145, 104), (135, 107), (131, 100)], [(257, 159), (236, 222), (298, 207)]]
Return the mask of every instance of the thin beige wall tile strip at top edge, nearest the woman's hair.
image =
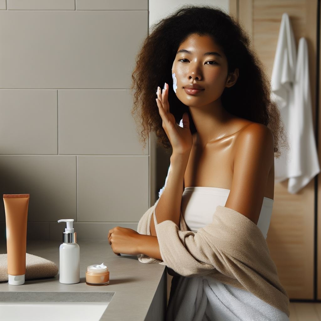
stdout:
[(77, 10), (147, 10), (148, 0), (76, 0)]

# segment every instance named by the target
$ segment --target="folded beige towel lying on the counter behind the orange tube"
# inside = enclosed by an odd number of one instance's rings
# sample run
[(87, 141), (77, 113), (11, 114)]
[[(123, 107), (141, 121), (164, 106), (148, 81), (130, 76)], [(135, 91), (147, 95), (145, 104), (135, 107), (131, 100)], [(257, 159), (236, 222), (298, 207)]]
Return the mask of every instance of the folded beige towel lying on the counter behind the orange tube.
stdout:
[[(25, 280), (39, 279), (55, 276), (58, 273), (56, 263), (43, 257), (26, 253)], [(7, 254), (0, 254), (0, 282), (8, 281), (8, 258)]]

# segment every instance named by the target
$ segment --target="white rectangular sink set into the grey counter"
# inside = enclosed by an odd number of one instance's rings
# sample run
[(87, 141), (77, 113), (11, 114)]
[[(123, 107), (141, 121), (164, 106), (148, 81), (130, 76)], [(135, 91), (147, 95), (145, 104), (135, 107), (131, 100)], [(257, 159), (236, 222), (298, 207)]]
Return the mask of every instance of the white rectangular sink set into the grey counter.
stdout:
[(99, 321), (115, 292), (2, 292), (6, 321)]

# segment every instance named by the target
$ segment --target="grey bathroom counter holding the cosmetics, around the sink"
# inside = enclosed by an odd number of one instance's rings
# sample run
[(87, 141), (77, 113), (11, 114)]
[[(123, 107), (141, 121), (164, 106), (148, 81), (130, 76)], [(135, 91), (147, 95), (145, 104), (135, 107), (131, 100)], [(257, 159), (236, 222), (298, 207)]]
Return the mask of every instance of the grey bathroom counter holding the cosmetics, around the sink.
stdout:
[[(59, 246), (61, 241), (27, 240), (27, 253), (46, 258), (56, 263), (59, 268)], [(79, 240), (80, 247), (80, 282), (62, 284), (59, 272), (55, 277), (26, 280), (22, 285), (9, 285), (0, 282), (0, 301), (21, 301), (23, 293), (49, 292), (51, 301), (59, 301), (62, 292), (68, 292), (75, 301), (84, 302), (89, 292), (111, 292), (108, 307), (100, 318), (104, 320), (164, 320), (167, 305), (167, 271), (158, 263), (144, 264), (137, 256), (117, 256), (108, 240)], [(0, 241), (0, 253), (7, 253), (6, 241)], [(92, 264), (105, 263), (109, 270), (109, 284), (90, 286), (86, 284), (85, 271)], [(79, 300), (79, 292), (84, 292)], [(108, 295), (107, 295), (108, 296)], [(81, 297), (81, 296), (80, 296)], [(108, 300), (108, 301), (109, 301)]]

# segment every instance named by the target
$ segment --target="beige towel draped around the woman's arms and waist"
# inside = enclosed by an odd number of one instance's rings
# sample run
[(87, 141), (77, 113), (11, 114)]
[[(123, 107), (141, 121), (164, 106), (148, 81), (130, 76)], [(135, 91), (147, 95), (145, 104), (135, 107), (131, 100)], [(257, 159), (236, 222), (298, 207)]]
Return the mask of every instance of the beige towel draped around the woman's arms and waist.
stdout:
[[(138, 233), (151, 235), (150, 221), (159, 199), (140, 219)], [(253, 293), (290, 316), (289, 296), (279, 280), (266, 240), (246, 216), (218, 205), (212, 223), (197, 232), (188, 231), (182, 212), (180, 230), (170, 220), (158, 224), (155, 213), (154, 222), (163, 261), (139, 254), (140, 262), (166, 265), (185, 277), (211, 276)]]

